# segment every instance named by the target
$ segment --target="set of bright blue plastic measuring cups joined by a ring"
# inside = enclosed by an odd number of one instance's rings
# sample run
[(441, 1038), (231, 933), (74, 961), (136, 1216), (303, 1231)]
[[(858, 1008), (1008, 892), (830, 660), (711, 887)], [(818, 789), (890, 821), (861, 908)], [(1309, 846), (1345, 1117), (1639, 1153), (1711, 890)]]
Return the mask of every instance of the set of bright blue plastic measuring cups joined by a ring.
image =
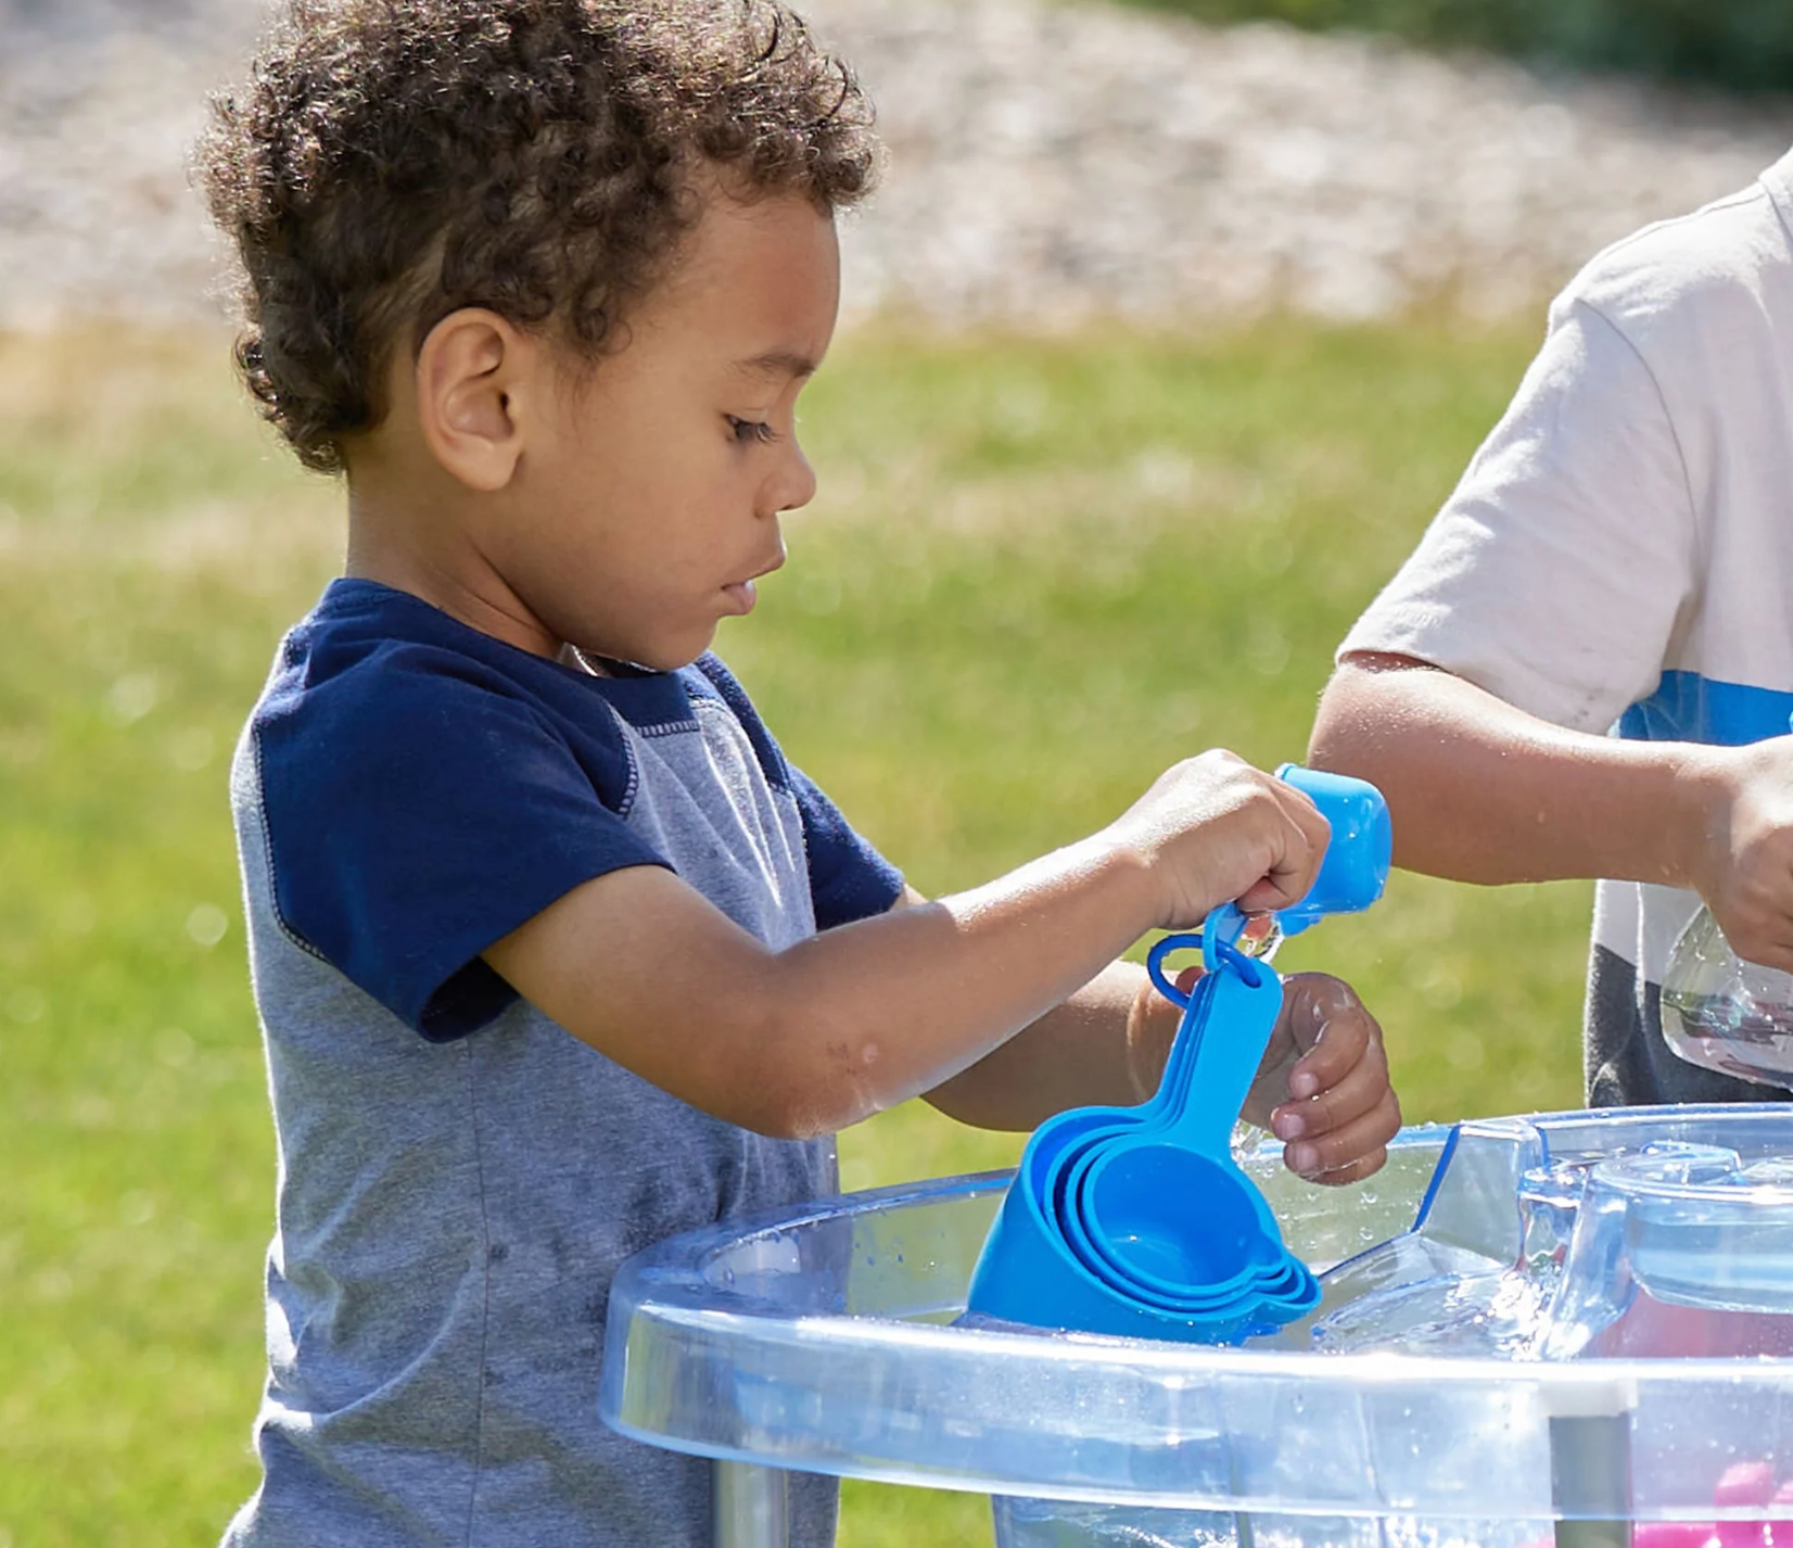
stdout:
[[(1139, 1107), (1083, 1107), (1027, 1141), (972, 1277), (968, 1311), (1033, 1327), (1235, 1344), (1311, 1311), (1312, 1272), (1232, 1157), (1232, 1130), (1282, 1012), (1268, 952), (1329, 913), (1382, 895), (1391, 832), (1381, 793), (1345, 775), (1284, 764), (1332, 827), (1312, 888), (1268, 933), (1235, 904), (1148, 958), (1183, 1012), (1156, 1094)], [(1164, 960), (1200, 947), (1207, 972), (1185, 994)]]

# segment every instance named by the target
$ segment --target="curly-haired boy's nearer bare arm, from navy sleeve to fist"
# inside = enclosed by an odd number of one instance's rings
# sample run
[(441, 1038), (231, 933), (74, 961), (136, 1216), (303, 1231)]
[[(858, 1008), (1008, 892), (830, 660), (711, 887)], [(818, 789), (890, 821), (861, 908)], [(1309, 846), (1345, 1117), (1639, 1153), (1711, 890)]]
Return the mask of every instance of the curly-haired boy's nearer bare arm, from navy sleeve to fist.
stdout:
[(1196, 926), (1232, 899), (1286, 908), (1325, 841), (1300, 791), (1205, 753), (1081, 843), (787, 951), (671, 872), (635, 866), (574, 888), (486, 960), (694, 1107), (766, 1134), (827, 1134), (968, 1069), (1148, 929)]

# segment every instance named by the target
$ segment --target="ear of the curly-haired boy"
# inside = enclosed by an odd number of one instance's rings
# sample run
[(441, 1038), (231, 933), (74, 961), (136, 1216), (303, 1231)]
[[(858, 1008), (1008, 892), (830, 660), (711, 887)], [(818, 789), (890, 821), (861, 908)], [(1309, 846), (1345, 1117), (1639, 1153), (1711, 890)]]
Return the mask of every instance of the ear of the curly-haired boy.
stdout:
[(450, 312), (418, 350), (418, 429), (437, 463), (481, 493), (516, 472), (540, 346), (497, 312)]

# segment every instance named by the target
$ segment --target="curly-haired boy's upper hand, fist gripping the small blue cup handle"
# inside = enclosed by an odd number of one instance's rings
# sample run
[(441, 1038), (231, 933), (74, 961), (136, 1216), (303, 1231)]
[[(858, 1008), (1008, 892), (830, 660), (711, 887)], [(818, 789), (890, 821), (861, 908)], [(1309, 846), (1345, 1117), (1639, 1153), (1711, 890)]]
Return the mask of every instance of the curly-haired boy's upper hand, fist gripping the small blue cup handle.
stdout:
[(1156, 886), (1158, 929), (1191, 929), (1210, 909), (1289, 908), (1314, 884), (1332, 836), (1295, 786), (1230, 752), (1173, 764), (1108, 834)]

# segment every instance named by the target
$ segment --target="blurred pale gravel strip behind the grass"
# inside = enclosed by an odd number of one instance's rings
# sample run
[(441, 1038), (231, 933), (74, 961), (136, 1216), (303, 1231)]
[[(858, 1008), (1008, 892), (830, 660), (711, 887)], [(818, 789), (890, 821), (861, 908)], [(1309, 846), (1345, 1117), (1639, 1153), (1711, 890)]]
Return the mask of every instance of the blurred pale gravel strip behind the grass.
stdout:
[[(812, 0), (891, 145), (846, 305), (947, 326), (1535, 309), (1743, 187), (1793, 102), (1054, 0)], [(262, 0), (0, 0), (0, 325), (215, 317), (188, 188)]]

